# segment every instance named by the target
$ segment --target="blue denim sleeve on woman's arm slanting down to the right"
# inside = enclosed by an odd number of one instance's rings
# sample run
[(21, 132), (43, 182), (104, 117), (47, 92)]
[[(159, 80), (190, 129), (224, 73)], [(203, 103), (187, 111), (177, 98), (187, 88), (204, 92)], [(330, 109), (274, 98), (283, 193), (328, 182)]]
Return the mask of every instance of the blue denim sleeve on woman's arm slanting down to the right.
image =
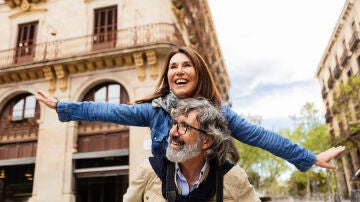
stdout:
[(310, 169), (315, 163), (315, 154), (306, 148), (291, 142), (288, 138), (277, 133), (247, 122), (227, 105), (223, 105), (222, 109), (229, 122), (231, 136), (235, 139), (245, 144), (267, 150), (287, 160), (303, 172)]

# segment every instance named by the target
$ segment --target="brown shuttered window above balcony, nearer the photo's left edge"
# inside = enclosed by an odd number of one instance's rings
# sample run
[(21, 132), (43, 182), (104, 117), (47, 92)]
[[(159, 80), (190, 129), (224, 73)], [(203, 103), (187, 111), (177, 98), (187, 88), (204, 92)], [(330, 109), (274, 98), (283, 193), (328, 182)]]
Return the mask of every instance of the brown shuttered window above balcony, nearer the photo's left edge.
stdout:
[(38, 22), (20, 24), (16, 42), (15, 63), (32, 61), (35, 55)]

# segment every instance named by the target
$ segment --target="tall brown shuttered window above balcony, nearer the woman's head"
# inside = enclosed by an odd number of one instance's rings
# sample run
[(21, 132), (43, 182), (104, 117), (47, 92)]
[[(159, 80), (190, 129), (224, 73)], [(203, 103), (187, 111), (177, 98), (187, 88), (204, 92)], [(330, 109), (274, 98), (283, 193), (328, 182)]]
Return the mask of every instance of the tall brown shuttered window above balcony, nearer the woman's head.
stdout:
[(117, 34), (117, 6), (100, 8), (94, 14), (94, 49), (113, 48)]

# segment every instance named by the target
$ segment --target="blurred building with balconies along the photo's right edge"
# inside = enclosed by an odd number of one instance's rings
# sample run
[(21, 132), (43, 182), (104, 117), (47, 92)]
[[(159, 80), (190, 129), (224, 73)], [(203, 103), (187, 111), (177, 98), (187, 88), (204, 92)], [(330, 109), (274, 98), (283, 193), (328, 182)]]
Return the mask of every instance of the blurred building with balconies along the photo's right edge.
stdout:
[(337, 190), (344, 199), (360, 189), (359, 33), (360, 0), (346, 0), (316, 71), (330, 139), (334, 146), (347, 146), (336, 170)]

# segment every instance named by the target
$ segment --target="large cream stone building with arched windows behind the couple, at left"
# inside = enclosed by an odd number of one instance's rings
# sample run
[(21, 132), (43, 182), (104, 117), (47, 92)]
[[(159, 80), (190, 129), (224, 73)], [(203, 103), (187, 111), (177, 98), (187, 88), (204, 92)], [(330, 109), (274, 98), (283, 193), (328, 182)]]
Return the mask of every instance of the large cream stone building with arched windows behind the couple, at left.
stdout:
[(0, 0), (0, 22), (0, 201), (122, 201), (151, 155), (148, 128), (61, 123), (37, 89), (131, 103), (153, 92), (169, 50), (187, 45), (229, 99), (206, 0)]

